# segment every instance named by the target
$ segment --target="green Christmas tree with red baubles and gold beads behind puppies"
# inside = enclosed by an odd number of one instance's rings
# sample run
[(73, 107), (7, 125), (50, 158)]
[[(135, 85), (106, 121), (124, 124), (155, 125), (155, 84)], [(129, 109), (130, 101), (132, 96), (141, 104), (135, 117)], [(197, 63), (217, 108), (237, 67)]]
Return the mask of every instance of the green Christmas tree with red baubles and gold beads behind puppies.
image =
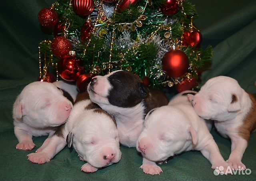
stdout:
[(54, 35), (39, 44), (39, 80), (55, 81), (53, 66), (84, 91), (92, 76), (122, 69), (146, 85), (192, 89), (212, 58), (211, 46), (200, 47), (197, 17), (188, 0), (57, 0), (38, 14)]

